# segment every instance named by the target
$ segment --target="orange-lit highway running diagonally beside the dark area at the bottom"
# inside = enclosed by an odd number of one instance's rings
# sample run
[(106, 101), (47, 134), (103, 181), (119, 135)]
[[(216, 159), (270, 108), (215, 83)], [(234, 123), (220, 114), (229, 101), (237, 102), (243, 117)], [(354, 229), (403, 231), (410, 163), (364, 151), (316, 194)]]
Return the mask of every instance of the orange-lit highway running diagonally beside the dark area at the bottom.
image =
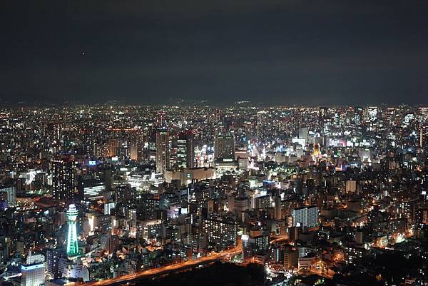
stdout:
[(98, 282), (89, 282), (89, 283), (85, 283), (81, 286), (101, 286), (101, 285), (122, 284), (122, 283), (130, 282), (130, 281), (136, 280), (136, 279), (163, 275), (163, 274), (166, 274), (169, 272), (180, 271), (180, 270), (184, 270), (186, 268), (196, 267), (198, 265), (204, 265), (204, 264), (207, 264), (210, 262), (215, 262), (215, 261), (220, 260), (222, 258), (230, 257), (231, 255), (237, 255), (241, 251), (242, 251), (242, 248), (240, 245), (238, 245), (237, 247), (234, 247), (230, 250), (225, 250), (223, 252), (214, 253), (212, 255), (200, 257), (200, 258), (195, 259), (195, 260), (188, 260), (188, 261), (181, 262), (181, 263), (174, 264), (174, 265), (166, 265), (163, 267), (153, 268), (153, 269), (145, 270), (142, 272), (138, 272), (136, 274), (123, 275), (120, 277), (102, 280), (102, 281), (98, 281)]

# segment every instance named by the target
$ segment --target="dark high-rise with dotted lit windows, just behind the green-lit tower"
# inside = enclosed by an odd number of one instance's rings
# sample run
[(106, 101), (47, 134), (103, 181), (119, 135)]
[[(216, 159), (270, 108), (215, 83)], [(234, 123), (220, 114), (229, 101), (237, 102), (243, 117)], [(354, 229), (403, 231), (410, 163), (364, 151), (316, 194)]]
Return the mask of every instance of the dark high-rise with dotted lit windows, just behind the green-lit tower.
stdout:
[(52, 181), (54, 199), (66, 202), (74, 196), (74, 176), (76, 162), (72, 158), (61, 158), (52, 161)]

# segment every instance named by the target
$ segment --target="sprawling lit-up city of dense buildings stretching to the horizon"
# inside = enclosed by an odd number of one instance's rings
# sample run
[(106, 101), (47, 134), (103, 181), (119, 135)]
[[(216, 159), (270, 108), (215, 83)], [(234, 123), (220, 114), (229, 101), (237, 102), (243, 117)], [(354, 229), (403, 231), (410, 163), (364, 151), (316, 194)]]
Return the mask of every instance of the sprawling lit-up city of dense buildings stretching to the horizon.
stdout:
[(1, 283), (215, 259), (428, 285), (427, 126), (419, 106), (0, 108)]

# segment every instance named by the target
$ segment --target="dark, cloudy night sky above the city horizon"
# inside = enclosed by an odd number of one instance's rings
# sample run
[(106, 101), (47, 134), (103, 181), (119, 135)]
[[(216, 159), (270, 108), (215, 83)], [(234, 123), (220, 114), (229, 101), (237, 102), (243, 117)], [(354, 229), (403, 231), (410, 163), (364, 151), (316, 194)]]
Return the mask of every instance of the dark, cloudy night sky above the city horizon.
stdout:
[(1, 1), (3, 101), (428, 104), (428, 1)]

